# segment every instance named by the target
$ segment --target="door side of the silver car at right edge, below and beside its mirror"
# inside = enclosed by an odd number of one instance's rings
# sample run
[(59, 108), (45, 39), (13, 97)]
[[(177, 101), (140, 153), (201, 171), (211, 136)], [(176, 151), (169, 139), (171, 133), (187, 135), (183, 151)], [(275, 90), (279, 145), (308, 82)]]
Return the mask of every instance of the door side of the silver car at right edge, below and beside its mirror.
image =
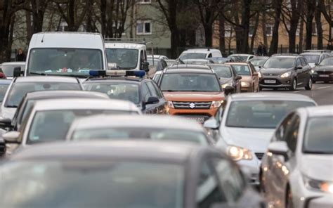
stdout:
[(299, 134), (299, 115), (289, 115), (284, 120), (280, 129), (275, 133), (276, 141), (285, 141), (289, 152), (288, 157), (282, 155), (271, 154), (270, 176), (266, 178), (271, 183), (269, 188), (270, 198), (274, 198), (274, 202), (285, 202), (285, 189), (288, 183), (289, 173), (295, 166), (294, 154), (296, 151), (296, 143)]

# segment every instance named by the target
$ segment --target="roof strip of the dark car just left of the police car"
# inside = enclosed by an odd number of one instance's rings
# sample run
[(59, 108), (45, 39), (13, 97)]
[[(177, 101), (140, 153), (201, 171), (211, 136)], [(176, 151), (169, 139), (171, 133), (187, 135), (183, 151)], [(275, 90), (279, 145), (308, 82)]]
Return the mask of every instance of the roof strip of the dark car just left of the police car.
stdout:
[(26, 99), (44, 99), (44, 98), (107, 98), (105, 93), (91, 91), (34, 91), (27, 93)]

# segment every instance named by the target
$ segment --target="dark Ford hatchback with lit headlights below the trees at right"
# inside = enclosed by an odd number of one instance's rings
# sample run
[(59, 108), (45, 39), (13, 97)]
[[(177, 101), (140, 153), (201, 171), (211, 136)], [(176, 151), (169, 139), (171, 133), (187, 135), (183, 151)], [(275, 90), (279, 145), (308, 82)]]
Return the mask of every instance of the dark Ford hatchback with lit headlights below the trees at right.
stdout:
[(311, 66), (299, 55), (276, 55), (261, 67), (260, 89), (312, 89)]

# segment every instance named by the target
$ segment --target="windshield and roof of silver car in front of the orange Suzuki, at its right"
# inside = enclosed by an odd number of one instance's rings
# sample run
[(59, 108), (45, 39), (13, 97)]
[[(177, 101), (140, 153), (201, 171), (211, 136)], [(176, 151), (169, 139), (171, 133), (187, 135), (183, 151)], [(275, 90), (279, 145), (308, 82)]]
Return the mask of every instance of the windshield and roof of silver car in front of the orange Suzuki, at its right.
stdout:
[(306, 101), (242, 100), (230, 104), (226, 126), (275, 129), (285, 115), (296, 108), (315, 105)]

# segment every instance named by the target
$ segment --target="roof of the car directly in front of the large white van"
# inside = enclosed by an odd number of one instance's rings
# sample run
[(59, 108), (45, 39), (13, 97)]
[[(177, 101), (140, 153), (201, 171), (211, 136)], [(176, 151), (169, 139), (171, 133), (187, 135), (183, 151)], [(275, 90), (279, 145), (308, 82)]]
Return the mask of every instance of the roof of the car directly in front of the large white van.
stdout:
[(77, 83), (78, 79), (75, 77), (64, 76), (29, 76), (29, 77), (17, 77), (14, 82), (65, 82), (65, 83)]

